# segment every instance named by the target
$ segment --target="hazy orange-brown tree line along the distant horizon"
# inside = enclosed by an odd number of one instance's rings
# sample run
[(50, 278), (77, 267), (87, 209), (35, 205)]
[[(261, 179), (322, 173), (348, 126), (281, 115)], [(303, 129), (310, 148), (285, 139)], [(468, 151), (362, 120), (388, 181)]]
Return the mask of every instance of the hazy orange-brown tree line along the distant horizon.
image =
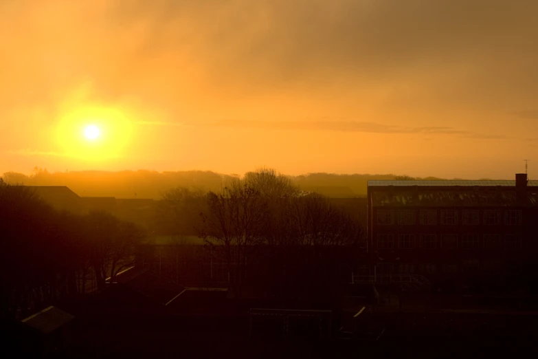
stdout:
[[(227, 183), (247, 176), (225, 175), (212, 171), (71, 171), (50, 173), (34, 168), (30, 175), (8, 172), (3, 180), (9, 184), (28, 186), (68, 186), (82, 197), (153, 198), (177, 186), (202, 191), (221, 191)], [(308, 173), (286, 176), (304, 191), (315, 191), (328, 197), (365, 197), (369, 179), (439, 179), (399, 175)]]

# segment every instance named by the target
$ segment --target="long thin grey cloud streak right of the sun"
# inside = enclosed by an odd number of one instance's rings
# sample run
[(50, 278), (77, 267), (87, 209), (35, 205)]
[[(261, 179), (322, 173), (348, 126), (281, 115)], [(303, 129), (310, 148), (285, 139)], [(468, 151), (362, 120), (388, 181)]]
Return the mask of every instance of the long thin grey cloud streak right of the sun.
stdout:
[(210, 126), (257, 128), (257, 129), (278, 129), (278, 130), (315, 130), (315, 131), (340, 131), (340, 132), (362, 132), (362, 133), (409, 133), (409, 134), (429, 134), (429, 135), (459, 135), (467, 138), (500, 140), (506, 138), (504, 135), (487, 135), (472, 131), (462, 131), (453, 127), (404, 127), (392, 126), (378, 122), (364, 121), (254, 121), (254, 120), (219, 120), (209, 124)]

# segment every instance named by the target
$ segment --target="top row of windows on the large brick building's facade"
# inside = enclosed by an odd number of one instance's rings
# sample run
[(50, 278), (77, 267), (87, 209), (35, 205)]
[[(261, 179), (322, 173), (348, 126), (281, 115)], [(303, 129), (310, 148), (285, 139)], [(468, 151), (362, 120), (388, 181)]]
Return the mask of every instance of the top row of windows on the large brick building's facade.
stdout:
[[(419, 210), (418, 224), (424, 225), (478, 225), (480, 224), (480, 210), (462, 210), (461, 221), (459, 210)], [(414, 225), (416, 224), (416, 210), (399, 210), (398, 220), (394, 210), (377, 210), (377, 224), (382, 226), (388, 225)], [(502, 210), (482, 210), (482, 224), (498, 225), (501, 224)], [(504, 210), (504, 224), (517, 226), (522, 224), (521, 210)]]

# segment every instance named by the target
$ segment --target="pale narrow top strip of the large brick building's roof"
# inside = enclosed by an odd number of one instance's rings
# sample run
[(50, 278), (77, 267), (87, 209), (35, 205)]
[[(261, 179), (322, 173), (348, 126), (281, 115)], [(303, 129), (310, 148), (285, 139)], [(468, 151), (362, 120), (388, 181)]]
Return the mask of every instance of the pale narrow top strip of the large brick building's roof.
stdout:
[[(462, 187), (515, 187), (515, 181), (513, 180), (434, 180), (434, 181), (416, 181), (416, 180), (405, 180), (405, 181), (379, 181), (379, 180), (369, 180), (368, 187), (374, 186), (403, 186), (403, 187), (412, 187), (412, 186), (423, 186), (423, 187), (442, 187), (442, 186), (462, 186)], [(538, 187), (538, 180), (532, 180), (527, 182), (528, 187)]]

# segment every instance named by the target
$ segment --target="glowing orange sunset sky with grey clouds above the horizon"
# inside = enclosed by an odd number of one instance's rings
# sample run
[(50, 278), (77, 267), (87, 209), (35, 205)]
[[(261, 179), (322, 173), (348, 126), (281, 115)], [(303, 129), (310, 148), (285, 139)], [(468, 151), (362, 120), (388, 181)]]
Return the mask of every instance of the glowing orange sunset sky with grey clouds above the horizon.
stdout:
[(536, 179), (537, 19), (536, 0), (0, 0), (0, 173), (512, 179), (530, 159)]

